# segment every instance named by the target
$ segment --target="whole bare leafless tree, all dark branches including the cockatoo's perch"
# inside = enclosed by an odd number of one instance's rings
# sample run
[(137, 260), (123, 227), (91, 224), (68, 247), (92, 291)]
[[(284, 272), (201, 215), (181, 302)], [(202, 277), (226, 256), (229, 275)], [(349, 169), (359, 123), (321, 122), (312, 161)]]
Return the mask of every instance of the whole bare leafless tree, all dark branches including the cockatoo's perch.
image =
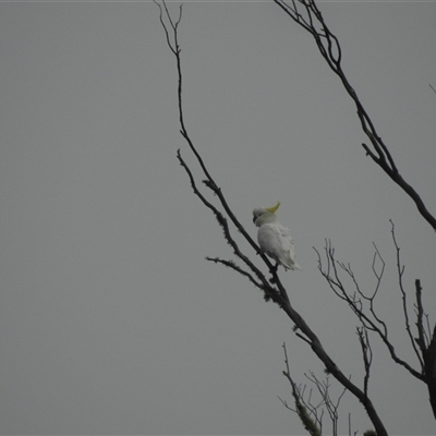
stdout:
[[(373, 121), (361, 104), (354, 89), (351, 87), (348, 78), (346, 77), (341, 68), (341, 47), (339, 45), (338, 38), (330, 32), (327, 27), (324, 17), (318, 10), (317, 5), (312, 0), (299, 0), (291, 1), (289, 4), (281, 0), (274, 0), (296, 24), (299, 24), (303, 29), (308, 32), (315, 39), (316, 45), (319, 49), (320, 55), (326, 60), (329, 68), (340, 77), (346, 90), (349, 96), (355, 102), (358, 109), (358, 117), (361, 121), (362, 130), (367, 135), (370, 140), (370, 146), (362, 144), (366, 155), (368, 155), (389, 177), (396, 182), (415, 203), (421, 216), (428, 222), (434, 230), (436, 230), (436, 219), (429, 214), (423, 201), (415, 192), (415, 190), (408, 184), (401, 177), (393, 157), (391, 156), (388, 147), (382, 141), (376, 132)], [(156, 2), (156, 1), (155, 1)], [(375, 246), (375, 255), (373, 262), (373, 272), (377, 278), (376, 288), (371, 295), (363, 293), (359, 287), (358, 281), (353, 275), (350, 265), (344, 265), (340, 263), (335, 257), (335, 250), (329, 241), (326, 241), (325, 256), (326, 266), (323, 266), (322, 255), (318, 253), (319, 271), (323, 277), (327, 280), (334, 293), (349, 305), (352, 312), (355, 314), (359, 326), (356, 327), (356, 335), (359, 338), (359, 343), (362, 351), (362, 361), (364, 365), (364, 378), (362, 386), (358, 386), (352, 383), (350, 377), (347, 377), (343, 372), (335, 363), (334, 359), (324, 349), (320, 340), (316, 334), (311, 329), (307, 323), (304, 320), (303, 316), (293, 307), (288, 296), (287, 290), (280, 281), (277, 274), (277, 268), (269, 262), (269, 259), (261, 252), (258, 245), (250, 237), (244, 227), (238, 220), (234, 213), (231, 210), (225, 194), (219, 187), (218, 183), (214, 180), (209, 173), (205, 161), (203, 160), (197, 148), (194, 146), (190, 134), (187, 132), (182, 104), (182, 84), (183, 75), (181, 68), (181, 50), (179, 44), (178, 29), (182, 19), (182, 7), (179, 9), (179, 14), (173, 17), (165, 1), (162, 3), (157, 3), (160, 11), (160, 22), (165, 29), (168, 46), (177, 60), (177, 72), (178, 72), (178, 104), (179, 104), (179, 122), (180, 122), (180, 133), (187, 143), (189, 149), (196, 158), (196, 161), (203, 172), (204, 179), (202, 184), (198, 184), (197, 180), (194, 178), (190, 166), (184, 160), (180, 149), (177, 153), (180, 165), (185, 170), (192, 190), (194, 194), (202, 201), (204, 206), (206, 206), (216, 217), (219, 226), (223, 231), (223, 237), (227, 243), (231, 246), (233, 254), (235, 255), (239, 263), (230, 259), (223, 259), (220, 257), (207, 257), (208, 261), (221, 264), (229, 267), (246, 279), (249, 279), (256, 288), (258, 288), (264, 293), (265, 301), (272, 301), (278, 304), (279, 307), (288, 315), (291, 322), (294, 324), (295, 335), (302, 339), (306, 344), (310, 346), (314, 354), (323, 362), (325, 365), (325, 371), (342, 385), (344, 391), (349, 391), (354, 397), (359, 399), (365, 409), (372, 424), (374, 425), (375, 433), (378, 436), (387, 435), (384, 423), (382, 422), (373, 402), (370, 398), (368, 392), (368, 379), (371, 375), (372, 366), (372, 348), (370, 342), (370, 334), (377, 335), (382, 341), (385, 343), (389, 350), (390, 356), (397, 364), (404, 367), (409, 374), (417, 378), (419, 380), (425, 383), (428, 388), (429, 398), (433, 411), (436, 416), (436, 327), (429, 328), (428, 317), (424, 312), (422, 304), (422, 289), (420, 280), (415, 282), (415, 327), (416, 334), (412, 332), (410, 325), (410, 314), (408, 312), (407, 305), (407, 294), (404, 287), (402, 286), (402, 267), (399, 258), (399, 247), (397, 245), (392, 225), (392, 238), (397, 247), (397, 264), (398, 264), (398, 275), (399, 275), (399, 286), (401, 295), (403, 299), (403, 314), (405, 319), (407, 332), (411, 346), (420, 361), (420, 368), (414, 368), (412, 365), (407, 363), (400, 356), (398, 356), (390, 339), (388, 337), (388, 327), (386, 323), (379, 318), (375, 311), (375, 299), (378, 292), (379, 283), (384, 274), (384, 259), (382, 258), (377, 247)], [(301, 8), (301, 10), (299, 10)], [(213, 198), (213, 199), (209, 199)], [(216, 198), (218, 201), (216, 201)], [(218, 203), (218, 204), (217, 204)], [(237, 238), (239, 234), (244, 238), (253, 251), (261, 256), (262, 261), (268, 268), (268, 274), (264, 274), (256, 267), (256, 265), (250, 259), (250, 256), (244, 253), (238, 242)], [(376, 261), (382, 265), (378, 269), (376, 268)], [(354, 282), (354, 290), (349, 291), (343, 281), (341, 280), (341, 275), (346, 274)], [(427, 324), (425, 324), (427, 323)], [(294, 384), (290, 376), (288, 358), (286, 355), (287, 371), (283, 374), (287, 376), (291, 383), (293, 397), (295, 399), (296, 410), (299, 416), (302, 419), (304, 425), (308, 425), (311, 434), (317, 434), (317, 429), (320, 432), (322, 422), (319, 421), (322, 416), (316, 413), (318, 410), (316, 405), (311, 403), (311, 400), (304, 401), (304, 396), (298, 386)], [(310, 380), (315, 384), (318, 391), (324, 396), (324, 404), (327, 405), (328, 413), (332, 419), (332, 422), (337, 422), (337, 411), (339, 402), (334, 403), (328, 397), (328, 385), (323, 385), (315, 375), (311, 375)], [(339, 399), (340, 400), (340, 399)], [(286, 402), (283, 402), (287, 405)], [(287, 405), (288, 407), (288, 405)], [(308, 413), (307, 413), (308, 411)], [(312, 416), (311, 416), (312, 415)], [(302, 417), (304, 416), (304, 417)], [(304, 419), (310, 417), (311, 420), (304, 422)], [(336, 420), (336, 421), (335, 421)], [(310, 423), (312, 422), (312, 424)], [(312, 433), (314, 432), (314, 433)]]

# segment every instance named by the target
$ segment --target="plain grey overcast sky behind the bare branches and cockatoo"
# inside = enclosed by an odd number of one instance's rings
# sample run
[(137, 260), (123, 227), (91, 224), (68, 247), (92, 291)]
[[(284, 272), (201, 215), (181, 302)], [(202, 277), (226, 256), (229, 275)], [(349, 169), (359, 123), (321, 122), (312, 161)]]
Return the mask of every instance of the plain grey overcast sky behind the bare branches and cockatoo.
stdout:
[[(436, 213), (436, 3), (320, 9), (378, 133)], [(255, 238), (253, 208), (282, 203), (303, 267), (281, 271), (294, 307), (362, 386), (356, 322), (313, 246), (331, 239), (371, 292), (376, 242), (387, 264), (377, 313), (417, 367), (389, 219), (432, 325), (436, 235), (365, 156), (353, 104), (311, 36), (271, 2), (186, 2), (180, 43), (186, 126), (230, 206)], [(202, 180), (179, 134), (158, 8), (2, 2), (0, 50), (1, 433), (303, 434), (278, 399), (292, 402), (283, 341), (296, 383), (323, 366), (276, 305), (205, 261), (232, 254), (175, 157)], [(388, 432), (434, 434), (425, 385), (376, 338), (373, 350), (370, 396)], [(346, 395), (342, 434), (349, 413), (353, 432), (371, 428)]]

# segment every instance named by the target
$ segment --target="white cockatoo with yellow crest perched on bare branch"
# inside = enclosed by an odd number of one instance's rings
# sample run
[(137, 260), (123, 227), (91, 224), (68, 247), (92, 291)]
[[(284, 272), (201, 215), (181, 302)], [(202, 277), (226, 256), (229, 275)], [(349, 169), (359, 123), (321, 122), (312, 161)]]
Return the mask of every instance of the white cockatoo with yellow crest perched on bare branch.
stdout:
[(253, 222), (259, 228), (258, 244), (262, 252), (272, 257), (277, 265), (282, 265), (284, 269), (301, 269), (300, 265), (295, 263), (291, 233), (289, 229), (280, 225), (275, 214), (279, 206), (280, 202), (272, 207), (253, 210)]

